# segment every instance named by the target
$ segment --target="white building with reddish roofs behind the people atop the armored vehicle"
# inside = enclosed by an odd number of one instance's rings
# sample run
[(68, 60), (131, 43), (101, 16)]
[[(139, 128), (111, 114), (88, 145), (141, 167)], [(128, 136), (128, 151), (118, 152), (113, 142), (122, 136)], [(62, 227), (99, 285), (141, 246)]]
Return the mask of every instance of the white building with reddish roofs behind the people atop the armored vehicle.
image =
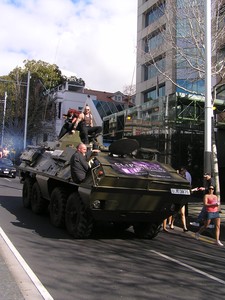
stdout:
[(134, 102), (134, 97), (120, 91), (111, 93), (86, 89), (84, 82), (71, 77), (46, 95), (45, 118), (42, 121), (45, 132), (35, 136), (33, 144), (57, 140), (65, 122), (63, 115), (70, 108), (83, 111), (85, 105), (89, 105), (94, 126), (102, 126), (105, 116), (124, 111), (134, 106)]

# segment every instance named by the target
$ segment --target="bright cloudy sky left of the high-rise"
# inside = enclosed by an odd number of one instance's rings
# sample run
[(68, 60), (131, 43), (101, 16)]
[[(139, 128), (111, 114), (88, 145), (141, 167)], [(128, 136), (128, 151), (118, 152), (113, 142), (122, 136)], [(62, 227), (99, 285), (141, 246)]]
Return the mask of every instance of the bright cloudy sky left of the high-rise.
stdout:
[(93, 90), (135, 84), (137, 0), (0, 0), (0, 76), (56, 64)]

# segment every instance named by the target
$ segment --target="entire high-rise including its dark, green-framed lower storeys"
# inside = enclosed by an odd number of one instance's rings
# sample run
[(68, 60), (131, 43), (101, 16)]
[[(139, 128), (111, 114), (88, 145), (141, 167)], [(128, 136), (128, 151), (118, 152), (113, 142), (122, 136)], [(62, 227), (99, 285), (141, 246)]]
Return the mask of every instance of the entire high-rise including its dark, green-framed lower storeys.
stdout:
[[(204, 3), (138, 0), (136, 106), (104, 118), (108, 139), (132, 137), (143, 147), (157, 148), (163, 162), (175, 168), (186, 165), (200, 181), (204, 156)], [(217, 3), (212, 26), (213, 71), (225, 57), (224, 1)], [(219, 23), (221, 30), (216, 31), (215, 24)], [(224, 70), (221, 68), (223, 78)], [(220, 80), (218, 74), (213, 74), (213, 85)], [(214, 125), (223, 173), (225, 118), (221, 112), (225, 98), (223, 81), (220, 84), (214, 89)]]

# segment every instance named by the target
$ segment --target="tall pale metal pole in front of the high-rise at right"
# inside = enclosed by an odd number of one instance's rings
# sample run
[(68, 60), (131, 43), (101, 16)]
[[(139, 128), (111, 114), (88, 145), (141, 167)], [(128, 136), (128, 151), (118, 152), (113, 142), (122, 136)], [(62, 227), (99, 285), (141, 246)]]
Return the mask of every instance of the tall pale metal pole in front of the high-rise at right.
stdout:
[(211, 0), (205, 0), (205, 135), (204, 172), (212, 173)]

